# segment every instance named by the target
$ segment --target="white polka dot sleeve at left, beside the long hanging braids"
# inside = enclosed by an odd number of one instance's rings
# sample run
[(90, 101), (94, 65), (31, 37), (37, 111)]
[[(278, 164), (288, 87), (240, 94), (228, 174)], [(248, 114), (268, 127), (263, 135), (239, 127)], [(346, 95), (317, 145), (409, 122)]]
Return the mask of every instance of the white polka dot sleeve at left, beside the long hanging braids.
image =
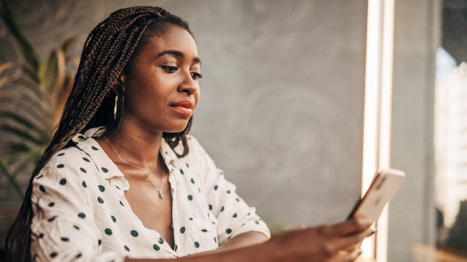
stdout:
[(122, 254), (102, 252), (84, 172), (55, 155), (33, 179), (33, 261), (124, 261)]

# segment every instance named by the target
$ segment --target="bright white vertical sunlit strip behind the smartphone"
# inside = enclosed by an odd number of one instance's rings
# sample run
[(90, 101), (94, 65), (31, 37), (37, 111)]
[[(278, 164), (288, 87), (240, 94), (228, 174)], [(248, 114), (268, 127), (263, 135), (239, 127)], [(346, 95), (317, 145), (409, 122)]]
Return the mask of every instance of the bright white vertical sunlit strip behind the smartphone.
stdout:
[[(389, 167), (394, 40), (394, 0), (369, 0), (365, 66), (362, 196), (375, 173)], [(388, 207), (376, 237), (362, 243), (363, 258), (387, 261)], [(376, 238), (376, 239), (375, 239)], [(375, 252), (376, 249), (376, 252)]]

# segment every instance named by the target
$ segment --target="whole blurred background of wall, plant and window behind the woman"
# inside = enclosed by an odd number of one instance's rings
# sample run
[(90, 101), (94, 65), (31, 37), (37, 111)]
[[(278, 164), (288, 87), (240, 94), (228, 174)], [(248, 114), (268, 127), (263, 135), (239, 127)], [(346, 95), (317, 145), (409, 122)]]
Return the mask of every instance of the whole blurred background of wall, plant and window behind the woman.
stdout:
[(273, 234), (345, 220), (392, 167), (364, 257), (467, 261), (467, 0), (0, 0), (1, 252), (85, 37), (131, 5), (189, 21), (191, 133)]

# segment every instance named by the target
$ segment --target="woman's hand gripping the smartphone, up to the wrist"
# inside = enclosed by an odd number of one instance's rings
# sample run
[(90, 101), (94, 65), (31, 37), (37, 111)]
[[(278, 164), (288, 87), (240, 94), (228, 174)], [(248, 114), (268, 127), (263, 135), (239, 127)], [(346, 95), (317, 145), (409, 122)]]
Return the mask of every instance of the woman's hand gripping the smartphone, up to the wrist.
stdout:
[(284, 231), (268, 241), (280, 261), (347, 262), (360, 253), (352, 252), (366, 237), (374, 234), (367, 220), (300, 227)]

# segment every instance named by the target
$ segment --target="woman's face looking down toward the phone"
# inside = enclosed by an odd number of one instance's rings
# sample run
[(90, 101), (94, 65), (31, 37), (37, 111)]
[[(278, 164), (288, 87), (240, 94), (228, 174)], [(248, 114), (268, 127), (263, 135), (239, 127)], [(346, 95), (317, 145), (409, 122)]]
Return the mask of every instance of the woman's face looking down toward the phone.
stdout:
[(171, 26), (150, 39), (137, 55), (131, 74), (121, 78), (123, 122), (147, 130), (183, 131), (200, 100), (198, 74), (201, 62), (187, 30)]

